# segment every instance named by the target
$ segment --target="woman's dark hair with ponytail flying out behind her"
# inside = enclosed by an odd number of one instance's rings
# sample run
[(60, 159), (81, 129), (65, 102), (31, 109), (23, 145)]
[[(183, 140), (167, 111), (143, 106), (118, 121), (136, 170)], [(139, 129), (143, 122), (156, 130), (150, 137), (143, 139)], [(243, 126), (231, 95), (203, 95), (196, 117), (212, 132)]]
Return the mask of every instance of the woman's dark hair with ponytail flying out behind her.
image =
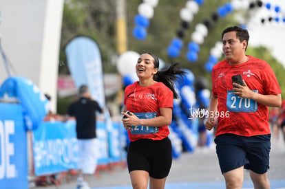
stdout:
[[(145, 54), (149, 54), (150, 56), (152, 56), (154, 58), (154, 68), (158, 69), (159, 68), (158, 56), (156, 56), (152, 53), (149, 53), (149, 52), (147, 52)], [(175, 81), (182, 80), (182, 76), (184, 74), (187, 74), (186, 71), (183, 71), (179, 67), (178, 63), (174, 63), (174, 64), (170, 65), (170, 67), (168, 69), (158, 71), (154, 75), (154, 80), (156, 80), (158, 82), (163, 82), (173, 92), (173, 98), (178, 99), (179, 96), (175, 90)]]

